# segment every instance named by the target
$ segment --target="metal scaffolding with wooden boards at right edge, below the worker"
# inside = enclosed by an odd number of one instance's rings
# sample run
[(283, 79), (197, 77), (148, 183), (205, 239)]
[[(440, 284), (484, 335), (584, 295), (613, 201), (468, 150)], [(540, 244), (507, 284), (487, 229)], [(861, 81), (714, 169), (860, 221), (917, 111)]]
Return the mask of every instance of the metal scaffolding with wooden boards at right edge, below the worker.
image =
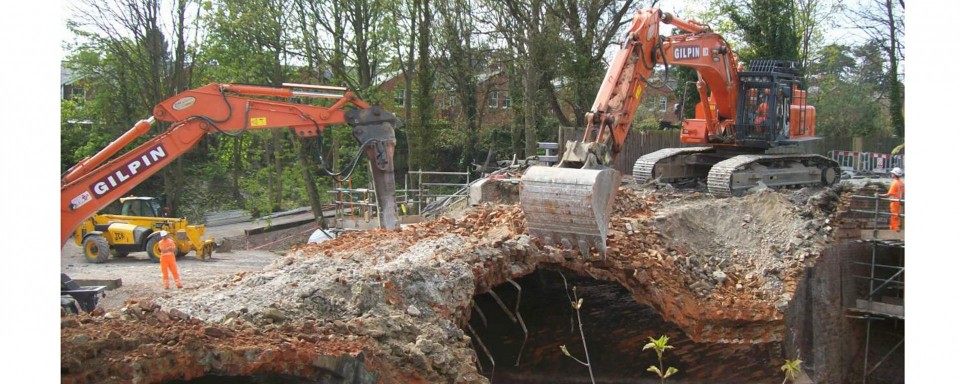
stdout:
[[(873, 331), (874, 322), (877, 321), (893, 321), (893, 326), (897, 329), (902, 327), (902, 322), (905, 321), (904, 316), (904, 273), (905, 273), (905, 242), (903, 240), (903, 220), (901, 220), (901, 228), (893, 231), (884, 228), (883, 224), (889, 217), (897, 215), (901, 218), (904, 217), (903, 214), (903, 199), (889, 199), (879, 196), (852, 196), (854, 199), (859, 201), (871, 201), (873, 202), (873, 210), (856, 210), (852, 209), (851, 212), (866, 213), (872, 214), (872, 223), (873, 228), (864, 230), (861, 232), (861, 239), (858, 242), (869, 243), (871, 247), (870, 261), (855, 261), (854, 265), (859, 265), (865, 267), (868, 271), (865, 275), (854, 275), (855, 279), (858, 279), (858, 282), (865, 282), (858, 284), (859, 287), (863, 289), (863, 292), (866, 292), (861, 297), (858, 297), (856, 300), (855, 306), (849, 308), (849, 312), (852, 312), (848, 317), (855, 319), (866, 320), (866, 335), (864, 337), (864, 347), (863, 347), (863, 383), (867, 383), (870, 375), (874, 373), (877, 368), (879, 368), (897, 349), (901, 348), (904, 344), (903, 336), (900, 337), (900, 341), (896, 343), (889, 351), (883, 354), (879, 359), (872, 362), (870, 361), (870, 350), (871, 350), (871, 335)], [(891, 213), (886, 210), (881, 210), (881, 201), (894, 202), (899, 201), (901, 203), (901, 209), (898, 213)], [(889, 228), (889, 227), (886, 227)], [(892, 252), (891, 250), (899, 249), (898, 252)], [(886, 257), (881, 257), (881, 254)], [(891, 257), (891, 254), (894, 254)]]

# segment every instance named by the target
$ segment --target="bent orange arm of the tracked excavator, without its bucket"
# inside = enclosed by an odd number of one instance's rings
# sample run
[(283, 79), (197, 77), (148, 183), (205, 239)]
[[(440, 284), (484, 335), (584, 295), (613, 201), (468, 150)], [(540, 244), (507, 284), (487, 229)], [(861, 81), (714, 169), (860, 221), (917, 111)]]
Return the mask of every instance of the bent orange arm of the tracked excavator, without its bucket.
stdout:
[[(661, 24), (686, 33), (662, 37)], [(739, 62), (727, 42), (696, 21), (679, 20), (658, 8), (641, 9), (634, 15), (625, 42), (587, 112), (583, 140), (566, 144), (559, 167), (598, 168), (616, 159), (630, 133), (650, 75), (661, 63), (696, 70), (701, 100), (698, 108), (712, 112), (705, 113), (703, 125), (710, 129), (698, 130), (701, 136), (720, 134), (721, 126), (733, 123)]]

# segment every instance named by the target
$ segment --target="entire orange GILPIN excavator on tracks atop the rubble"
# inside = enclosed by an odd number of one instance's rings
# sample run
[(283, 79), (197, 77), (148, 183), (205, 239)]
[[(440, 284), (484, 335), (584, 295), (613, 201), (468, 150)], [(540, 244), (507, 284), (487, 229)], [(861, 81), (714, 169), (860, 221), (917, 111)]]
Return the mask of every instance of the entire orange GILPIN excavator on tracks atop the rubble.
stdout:
[[(682, 33), (661, 36), (661, 24)], [(591, 249), (606, 254), (621, 181), (609, 164), (630, 133), (657, 64), (696, 70), (700, 102), (694, 118), (682, 121), (680, 141), (702, 146), (641, 156), (633, 168), (637, 183), (705, 180), (712, 194), (736, 196), (757, 186), (832, 185), (840, 179), (833, 160), (797, 153), (797, 144), (817, 137), (815, 109), (806, 104), (796, 64), (760, 60), (746, 68), (706, 25), (659, 8), (640, 9), (586, 114), (583, 140), (568, 141), (557, 165), (533, 166), (521, 177), (520, 205), (532, 236), (584, 256)]]

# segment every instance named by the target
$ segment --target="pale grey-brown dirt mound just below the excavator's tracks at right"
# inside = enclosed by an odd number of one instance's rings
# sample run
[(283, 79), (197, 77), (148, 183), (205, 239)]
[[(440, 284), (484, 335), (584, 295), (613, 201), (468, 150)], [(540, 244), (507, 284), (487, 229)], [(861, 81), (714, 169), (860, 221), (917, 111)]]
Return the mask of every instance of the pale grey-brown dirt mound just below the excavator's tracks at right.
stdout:
[(698, 295), (732, 279), (736, 289), (760, 288), (757, 299), (783, 308), (791, 297), (784, 284), (793, 284), (798, 268), (830, 241), (836, 200), (830, 189), (663, 200), (653, 225), (680, 253), (677, 266), (696, 277), (691, 288)]

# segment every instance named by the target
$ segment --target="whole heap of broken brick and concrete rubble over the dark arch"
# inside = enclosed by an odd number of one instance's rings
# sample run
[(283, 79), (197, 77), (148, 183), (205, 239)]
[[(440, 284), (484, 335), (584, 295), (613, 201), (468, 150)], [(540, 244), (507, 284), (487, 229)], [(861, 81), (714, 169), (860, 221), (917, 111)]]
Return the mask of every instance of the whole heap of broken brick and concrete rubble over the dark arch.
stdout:
[[(823, 195), (831, 192), (802, 193), (717, 199), (622, 188), (606, 257), (543, 246), (526, 234), (516, 205), (483, 206), (395, 232), (346, 233), (295, 248), (261, 272), (157, 298), (149, 310), (127, 306), (81, 317), (79, 326), (63, 328), (64, 377), (161, 382), (171, 377), (145, 367), (166, 362), (191, 367), (186, 378), (310, 376), (326, 369), (315, 363), (322, 356), (362, 360), (381, 382), (486, 382), (463, 330), (473, 297), (543, 265), (618, 282), (696, 341), (778, 341), (785, 303), (831, 233), (832, 200)], [(106, 352), (71, 341), (110, 339), (110, 330), (120, 341)], [(246, 358), (245, 342), (229, 341), (241, 336), (260, 351), (289, 355), (292, 365)], [(231, 363), (205, 357), (211, 354)]]

